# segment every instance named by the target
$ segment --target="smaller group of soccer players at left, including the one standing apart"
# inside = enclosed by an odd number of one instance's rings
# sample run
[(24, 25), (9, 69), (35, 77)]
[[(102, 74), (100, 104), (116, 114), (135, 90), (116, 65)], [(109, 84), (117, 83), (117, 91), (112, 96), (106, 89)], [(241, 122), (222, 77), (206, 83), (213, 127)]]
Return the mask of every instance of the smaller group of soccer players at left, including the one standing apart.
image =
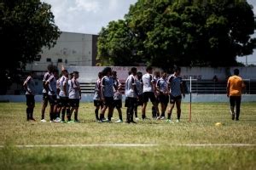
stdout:
[[(35, 121), (33, 118), (33, 109), (35, 107), (35, 82), (31, 73), (23, 83), (26, 89), (26, 118), (27, 121)], [(49, 121), (65, 122), (65, 113), (67, 112), (67, 122), (73, 122), (71, 116), (74, 112), (74, 122), (79, 122), (79, 99), (81, 99), (81, 90), (79, 86), (79, 72), (73, 71), (68, 74), (67, 70), (58, 71), (53, 65), (48, 65), (48, 71), (43, 79), (43, 105), (42, 117), (40, 122), (47, 122), (44, 119), (44, 112), (49, 103)], [(60, 117), (61, 116), (61, 117)]]

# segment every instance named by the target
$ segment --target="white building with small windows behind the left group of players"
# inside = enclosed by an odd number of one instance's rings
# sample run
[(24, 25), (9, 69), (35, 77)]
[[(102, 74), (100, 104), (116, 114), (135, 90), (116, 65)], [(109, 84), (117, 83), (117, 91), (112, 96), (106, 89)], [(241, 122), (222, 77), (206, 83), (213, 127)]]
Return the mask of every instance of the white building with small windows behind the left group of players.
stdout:
[(47, 71), (47, 65), (56, 65), (59, 70), (64, 66), (96, 65), (97, 36), (91, 34), (62, 32), (54, 48), (43, 48), (26, 71)]

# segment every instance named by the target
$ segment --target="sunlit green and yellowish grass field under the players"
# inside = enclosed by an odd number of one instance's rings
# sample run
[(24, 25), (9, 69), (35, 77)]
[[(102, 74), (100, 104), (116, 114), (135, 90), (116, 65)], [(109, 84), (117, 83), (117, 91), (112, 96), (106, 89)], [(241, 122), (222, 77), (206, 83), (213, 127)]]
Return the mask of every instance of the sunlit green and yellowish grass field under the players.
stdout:
[[(150, 108), (148, 105), (148, 116)], [(40, 109), (38, 103), (38, 121)], [(183, 104), (182, 122), (173, 124), (155, 120), (97, 123), (92, 103), (80, 105), (80, 123), (26, 122), (25, 111), (25, 103), (0, 103), (0, 169), (256, 168), (256, 103), (242, 103), (239, 122), (230, 119), (228, 103), (193, 104), (192, 122), (188, 122), (189, 105)], [(113, 117), (117, 119), (117, 111)], [(176, 111), (172, 117), (176, 118)], [(217, 127), (216, 122), (223, 125)], [(35, 147), (16, 146), (28, 144)]]

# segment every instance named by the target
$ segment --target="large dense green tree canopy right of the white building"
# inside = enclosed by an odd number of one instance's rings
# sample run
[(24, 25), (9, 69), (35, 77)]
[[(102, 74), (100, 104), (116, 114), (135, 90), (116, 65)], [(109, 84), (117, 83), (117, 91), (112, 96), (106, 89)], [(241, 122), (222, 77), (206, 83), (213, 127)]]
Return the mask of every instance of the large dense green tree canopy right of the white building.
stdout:
[[(138, 0), (125, 14), (125, 25), (119, 24), (119, 30), (129, 33), (109, 38), (118, 34), (112, 25), (119, 21), (102, 28), (98, 58), (106, 61), (108, 56), (111, 65), (162, 68), (237, 65), (236, 56), (252, 54), (255, 48), (252, 8), (244, 0)], [(119, 45), (110, 45), (115, 42)]]

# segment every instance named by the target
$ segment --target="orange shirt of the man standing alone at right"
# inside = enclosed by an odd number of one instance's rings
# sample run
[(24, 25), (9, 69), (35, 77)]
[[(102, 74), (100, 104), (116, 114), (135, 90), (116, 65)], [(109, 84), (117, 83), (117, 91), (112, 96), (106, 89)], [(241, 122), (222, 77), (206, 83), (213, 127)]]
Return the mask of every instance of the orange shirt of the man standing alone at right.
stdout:
[(241, 80), (241, 77), (232, 76), (228, 80), (227, 92), (230, 96), (241, 96), (241, 90), (245, 87), (245, 84)]

